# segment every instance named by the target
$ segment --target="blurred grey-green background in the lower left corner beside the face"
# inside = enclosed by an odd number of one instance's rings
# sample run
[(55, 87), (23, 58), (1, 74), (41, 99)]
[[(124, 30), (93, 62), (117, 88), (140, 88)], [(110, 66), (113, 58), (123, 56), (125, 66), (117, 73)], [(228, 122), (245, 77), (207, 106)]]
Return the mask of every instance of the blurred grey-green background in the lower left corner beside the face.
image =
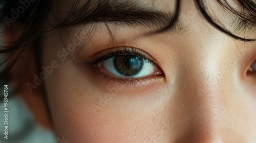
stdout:
[[(0, 35), (1, 36), (1, 35)], [(1, 42), (1, 40), (0, 40)], [(2, 60), (3, 57), (0, 57)], [(0, 71), (4, 65), (0, 66)], [(4, 138), (4, 85), (8, 84), (8, 139)], [(12, 91), (10, 83), (0, 79), (0, 142), (1, 143), (68, 143), (38, 126), (25, 103)]]

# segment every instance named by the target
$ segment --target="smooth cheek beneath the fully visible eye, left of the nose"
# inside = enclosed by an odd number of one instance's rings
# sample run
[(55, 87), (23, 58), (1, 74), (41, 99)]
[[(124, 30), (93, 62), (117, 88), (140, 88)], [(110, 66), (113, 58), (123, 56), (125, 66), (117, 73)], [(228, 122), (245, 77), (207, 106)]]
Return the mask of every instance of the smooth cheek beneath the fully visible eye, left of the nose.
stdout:
[(70, 142), (148, 142), (169, 136), (164, 109), (168, 100), (161, 98), (160, 90), (150, 94), (136, 91), (137, 96), (105, 92), (76, 71), (72, 62), (55, 69), (46, 80), (46, 89), (59, 138)]

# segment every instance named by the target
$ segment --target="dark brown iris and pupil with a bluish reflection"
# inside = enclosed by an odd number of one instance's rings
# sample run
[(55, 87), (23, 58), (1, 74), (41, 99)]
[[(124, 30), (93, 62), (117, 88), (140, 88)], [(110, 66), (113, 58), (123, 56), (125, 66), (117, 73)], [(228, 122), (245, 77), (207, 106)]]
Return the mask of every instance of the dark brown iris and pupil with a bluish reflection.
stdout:
[(114, 59), (115, 67), (123, 76), (134, 76), (139, 73), (143, 66), (143, 60), (138, 56), (123, 55)]

